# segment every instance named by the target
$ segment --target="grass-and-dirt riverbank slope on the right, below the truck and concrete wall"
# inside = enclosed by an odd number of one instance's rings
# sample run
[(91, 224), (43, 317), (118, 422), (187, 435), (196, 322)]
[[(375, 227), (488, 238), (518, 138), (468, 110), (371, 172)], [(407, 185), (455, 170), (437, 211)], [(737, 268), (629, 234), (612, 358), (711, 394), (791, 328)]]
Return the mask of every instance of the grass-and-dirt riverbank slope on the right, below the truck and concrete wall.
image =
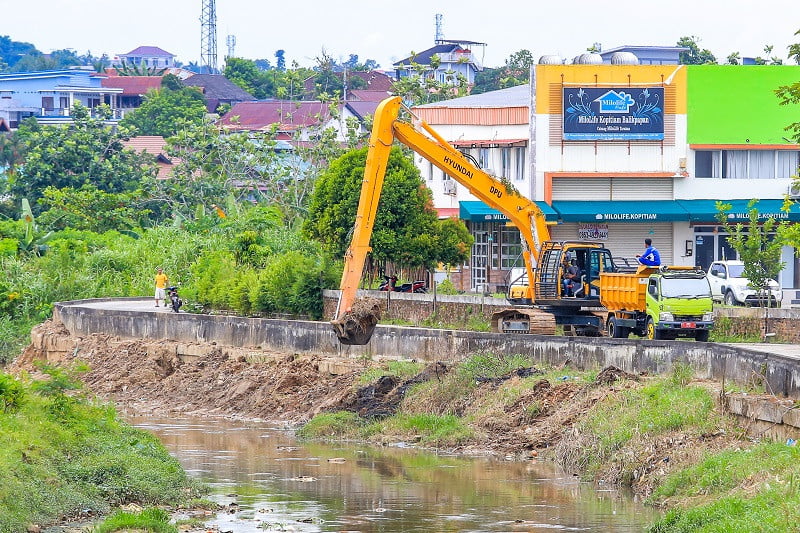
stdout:
[[(414, 363), (371, 368), (351, 391), (355, 401), (343, 403), (357, 410), (322, 413), (299, 434), (500, 453), (509, 443), (518, 457), (544, 457), (587, 481), (631, 487), (664, 511), (650, 528), (656, 533), (754, 524), (794, 531), (800, 523), (800, 448), (747, 437), (721, 412), (719, 392), (693, 382), (688, 366), (643, 377), (530, 363), (481, 354), (416, 376)], [(381, 390), (392, 377), (396, 388)], [(383, 405), (359, 401), (367, 397)]]

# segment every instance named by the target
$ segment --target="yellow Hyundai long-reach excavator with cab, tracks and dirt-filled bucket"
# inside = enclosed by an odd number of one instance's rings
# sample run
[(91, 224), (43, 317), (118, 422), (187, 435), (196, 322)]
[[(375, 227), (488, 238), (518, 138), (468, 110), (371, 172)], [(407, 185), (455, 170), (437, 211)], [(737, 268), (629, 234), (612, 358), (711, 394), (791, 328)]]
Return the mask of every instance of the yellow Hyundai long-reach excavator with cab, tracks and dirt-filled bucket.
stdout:
[[(353, 237), (345, 254), (341, 294), (331, 321), (339, 341), (367, 344), (379, 319), (377, 306), (357, 305), (356, 291), (371, 250), (370, 237), (395, 140), (503, 213), (508, 224), (520, 231), (525, 275), (509, 288), (508, 301), (513, 307), (493, 316), (494, 331), (554, 334), (556, 324), (561, 324), (579, 335), (600, 334), (605, 316), (592, 308), (600, 307), (600, 272), (616, 270), (611, 252), (600, 243), (551, 241), (545, 214), (536, 203), (481, 170), (424, 121), (412, 124), (401, 120), (401, 107), (402, 99), (395, 96), (382, 101), (375, 111)], [(562, 280), (570, 264), (577, 267), (579, 279), (566, 290)]]

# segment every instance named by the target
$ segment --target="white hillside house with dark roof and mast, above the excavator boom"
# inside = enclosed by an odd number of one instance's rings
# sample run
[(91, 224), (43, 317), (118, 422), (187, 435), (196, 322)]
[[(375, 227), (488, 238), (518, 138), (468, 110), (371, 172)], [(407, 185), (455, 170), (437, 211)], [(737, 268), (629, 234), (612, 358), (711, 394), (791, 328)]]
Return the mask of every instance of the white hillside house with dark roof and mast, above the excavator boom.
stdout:
[[(473, 48), (484, 47), (486, 43), (441, 39), (436, 45), (395, 63), (397, 79), (415, 74), (414, 64), (426, 68), (426, 73), (444, 84), (455, 85), (454, 74), (461, 74), (470, 85), (475, 83), (475, 74), (483, 70), (483, 65), (472, 52)], [(439, 65), (431, 67), (431, 59), (437, 56)]]

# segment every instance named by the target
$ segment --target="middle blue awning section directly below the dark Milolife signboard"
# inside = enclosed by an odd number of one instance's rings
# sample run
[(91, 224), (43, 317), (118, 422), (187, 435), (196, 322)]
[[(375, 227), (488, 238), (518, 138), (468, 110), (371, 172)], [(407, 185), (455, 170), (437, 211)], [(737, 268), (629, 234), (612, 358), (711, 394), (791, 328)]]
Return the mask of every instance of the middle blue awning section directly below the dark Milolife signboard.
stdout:
[(562, 222), (668, 222), (688, 220), (686, 210), (675, 200), (555, 201)]

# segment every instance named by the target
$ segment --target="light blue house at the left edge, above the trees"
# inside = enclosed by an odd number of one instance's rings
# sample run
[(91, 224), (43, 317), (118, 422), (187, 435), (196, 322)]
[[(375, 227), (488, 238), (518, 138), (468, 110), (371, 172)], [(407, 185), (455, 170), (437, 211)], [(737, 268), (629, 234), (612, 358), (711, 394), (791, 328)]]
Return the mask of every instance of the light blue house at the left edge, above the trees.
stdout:
[(72, 107), (80, 103), (92, 113), (108, 104), (112, 119), (118, 119), (116, 96), (122, 89), (103, 87), (103, 78), (79, 69), (0, 74), (0, 118), (12, 129), (28, 117), (41, 124), (70, 123)]

